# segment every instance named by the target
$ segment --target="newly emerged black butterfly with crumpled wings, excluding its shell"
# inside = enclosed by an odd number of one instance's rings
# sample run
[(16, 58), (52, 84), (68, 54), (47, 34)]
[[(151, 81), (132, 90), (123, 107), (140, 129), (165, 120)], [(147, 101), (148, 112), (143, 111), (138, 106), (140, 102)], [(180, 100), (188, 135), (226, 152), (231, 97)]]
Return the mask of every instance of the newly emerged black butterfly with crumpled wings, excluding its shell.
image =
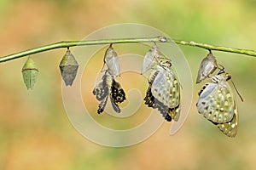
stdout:
[(102, 80), (96, 83), (96, 87), (93, 89), (93, 94), (96, 99), (100, 101), (97, 113), (100, 114), (105, 110), (107, 105), (108, 96), (110, 96), (110, 102), (113, 110), (120, 113), (119, 104), (122, 103), (125, 98), (125, 91), (117, 82), (114, 77), (109, 73), (109, 70), (105, 71)]

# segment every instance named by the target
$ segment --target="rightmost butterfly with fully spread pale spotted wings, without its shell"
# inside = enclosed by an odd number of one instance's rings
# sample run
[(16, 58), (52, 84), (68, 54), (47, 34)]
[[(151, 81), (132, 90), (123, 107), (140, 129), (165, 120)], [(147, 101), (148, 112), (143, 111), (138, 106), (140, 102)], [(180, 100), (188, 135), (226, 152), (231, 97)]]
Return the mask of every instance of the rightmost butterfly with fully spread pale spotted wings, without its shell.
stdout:
[(238, 111), (235, 96), (230, 87), (228, 73), (211, 78), (199, 92), (196, 104), (198, 112), (216, 125), (225, 135), (235, 137), (238, 130)]

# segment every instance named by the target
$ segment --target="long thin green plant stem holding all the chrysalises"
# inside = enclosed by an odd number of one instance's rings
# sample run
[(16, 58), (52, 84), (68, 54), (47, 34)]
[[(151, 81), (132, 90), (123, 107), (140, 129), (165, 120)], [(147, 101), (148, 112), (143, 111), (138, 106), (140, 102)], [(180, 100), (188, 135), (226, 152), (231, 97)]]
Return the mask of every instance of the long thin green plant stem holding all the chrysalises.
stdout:
[(102, 40), (87, 40), (87, 41), (66, 41), (66, 42), (56, 42), (49, 45), (45, 45), (39, 48), (32, 48), (20, 53), (9, 54), (0, 58), (0, 63), (5, 61), (9, 61), (12, 59), (18, 59), (21, 57), (25, 57), (31, 54), (37, 54), (44, 51), (49, 51), (55, 48), (69, 48), (73, 46), (84, 46), (84, 45), (100, 45), (100, 44), (110, 44), (110, 43), (134, 43), (134, 42), (172, 42), (180, 45), (188, 45), (194, 46), (198, 48), (205, 48), (207, 50), (216, 50), (223, 51), (228, 53), (236, 53), (236, 54), (245, 54), (256, 57), (256, 51), (248, 50), (248, 49), (239, 49), (239, 48), (226, 48), (220, 46), (208, 45), (205, 43), (198, 42), (186, 42), (179, 40), (171, 40), (166, 37), (145, 37), (145, 38), (117, 38), (117, 39), (102, 39)]

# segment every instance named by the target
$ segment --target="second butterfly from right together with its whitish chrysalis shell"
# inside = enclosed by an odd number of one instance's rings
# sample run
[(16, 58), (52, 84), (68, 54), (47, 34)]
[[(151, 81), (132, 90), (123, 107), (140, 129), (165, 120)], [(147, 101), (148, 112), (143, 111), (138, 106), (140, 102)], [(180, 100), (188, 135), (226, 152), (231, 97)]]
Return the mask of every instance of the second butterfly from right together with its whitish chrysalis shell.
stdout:
[(171, 60), (165, 59), (155, 44), (143, 59), (142, 73), (152, 69), (145, 105), (160, 111), (168, 122), (177, 121), (180, 115), (180, 83), (171, 66)]

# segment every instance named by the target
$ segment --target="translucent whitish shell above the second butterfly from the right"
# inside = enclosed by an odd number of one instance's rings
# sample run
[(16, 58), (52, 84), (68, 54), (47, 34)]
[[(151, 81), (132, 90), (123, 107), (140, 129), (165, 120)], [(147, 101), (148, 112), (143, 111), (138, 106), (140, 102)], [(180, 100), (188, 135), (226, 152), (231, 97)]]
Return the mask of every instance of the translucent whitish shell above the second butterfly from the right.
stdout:
[(143, 59), (143, 69), (142, 74), (154, 67), (157, 64), (158, 59), (163, 59), (164, 57), (160, 53), (160, 49), (154, 44), (152, 48), (150, 48)]

